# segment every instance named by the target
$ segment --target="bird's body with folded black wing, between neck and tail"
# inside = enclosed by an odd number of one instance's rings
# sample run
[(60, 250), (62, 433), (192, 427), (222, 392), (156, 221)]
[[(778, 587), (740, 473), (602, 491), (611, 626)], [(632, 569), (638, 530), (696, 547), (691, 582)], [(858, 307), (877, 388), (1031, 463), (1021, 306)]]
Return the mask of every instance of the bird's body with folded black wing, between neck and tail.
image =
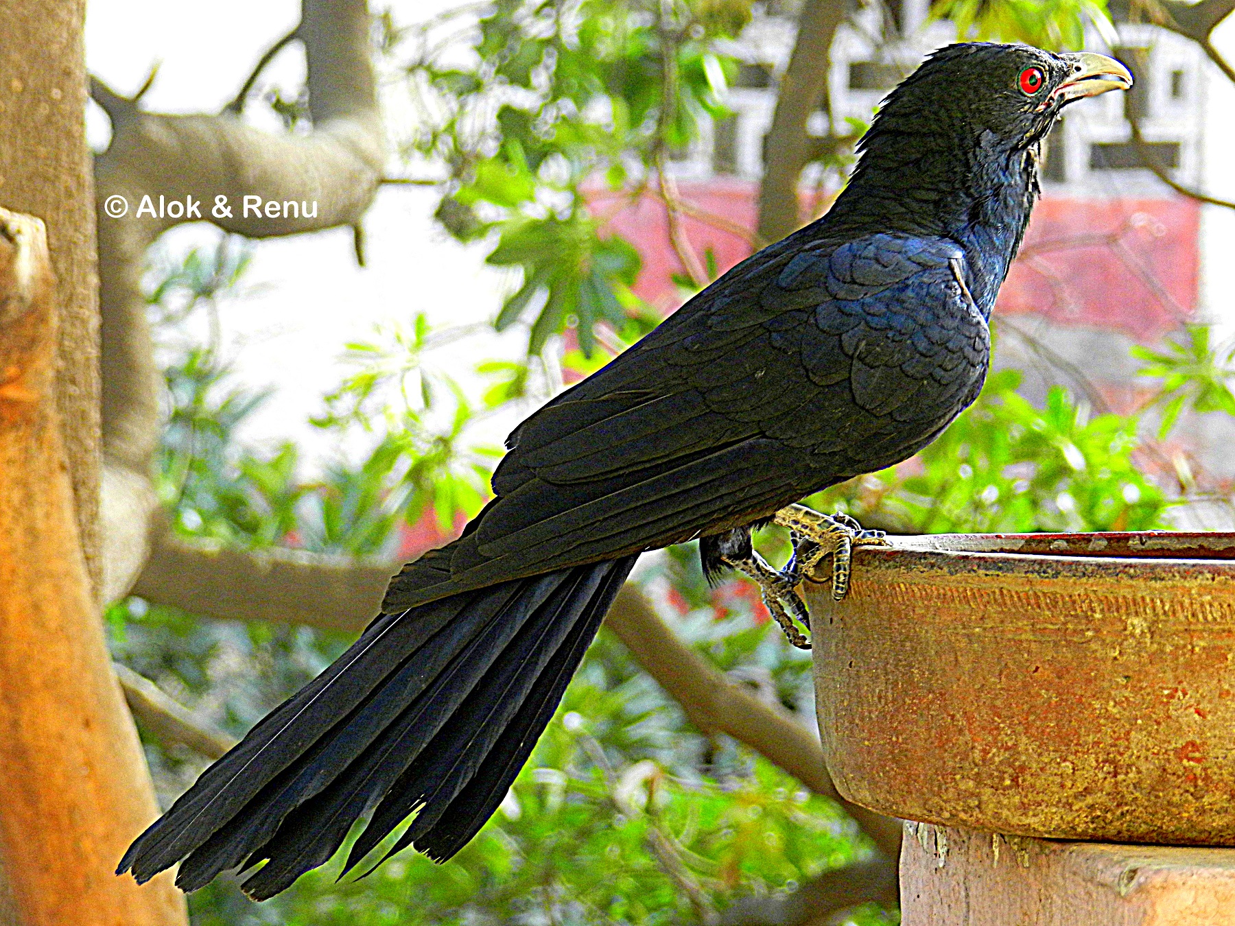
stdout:
[(911, 456), (986, 372), (965, 272), (903, 235), (756, 254), (521, 423), (496, 498), (384, 609), (750, 523)]

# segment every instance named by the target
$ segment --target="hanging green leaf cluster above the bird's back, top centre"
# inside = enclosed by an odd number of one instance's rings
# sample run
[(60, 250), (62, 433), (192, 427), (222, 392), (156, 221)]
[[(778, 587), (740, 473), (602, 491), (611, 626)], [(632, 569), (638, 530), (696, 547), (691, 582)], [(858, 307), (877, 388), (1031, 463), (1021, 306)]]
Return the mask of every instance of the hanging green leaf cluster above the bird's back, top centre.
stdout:
[(637, 198), (701, 120), (729, 115), (736, 63), (716, 40), (748, 20), (746, 0), (500, 0), (459, 40), (469, 65), (421, 42), (412, 148), (448, 167), (436, 216), (461, 241), (494, 235), (489, 262), (522, 270), (496, 323), (526, 321), (530, 354), (574, 327), (590, 357), (598, 325), (640, 312), (638, 254), (603, 231), (585, 184)]

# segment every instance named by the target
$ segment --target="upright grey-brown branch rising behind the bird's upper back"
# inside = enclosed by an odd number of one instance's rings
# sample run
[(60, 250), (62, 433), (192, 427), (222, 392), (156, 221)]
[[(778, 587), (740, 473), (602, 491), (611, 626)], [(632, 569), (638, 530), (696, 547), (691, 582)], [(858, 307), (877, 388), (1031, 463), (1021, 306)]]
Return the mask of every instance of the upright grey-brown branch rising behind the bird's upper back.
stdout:
[(757, 225), (763, 241), (779, 241), (798, 228), (798, 178), (815, 148), (806, 120), (827, 93), (832, 40), (846, 9), (844, 0), (805, 0), (802, 5), (798, 38), (763, 141)]

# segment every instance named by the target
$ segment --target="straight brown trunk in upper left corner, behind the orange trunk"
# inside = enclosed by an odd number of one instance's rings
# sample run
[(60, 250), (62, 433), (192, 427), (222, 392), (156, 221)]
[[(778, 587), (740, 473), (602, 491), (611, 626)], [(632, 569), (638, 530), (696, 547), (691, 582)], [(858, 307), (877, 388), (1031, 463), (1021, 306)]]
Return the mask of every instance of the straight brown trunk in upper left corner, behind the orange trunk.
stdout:
[(84, 15), (84, 0), (0, 5), (0, 206), (47, 226), (61, 312), (56, 399), (78, 532), (98, 589), (99, 322)]

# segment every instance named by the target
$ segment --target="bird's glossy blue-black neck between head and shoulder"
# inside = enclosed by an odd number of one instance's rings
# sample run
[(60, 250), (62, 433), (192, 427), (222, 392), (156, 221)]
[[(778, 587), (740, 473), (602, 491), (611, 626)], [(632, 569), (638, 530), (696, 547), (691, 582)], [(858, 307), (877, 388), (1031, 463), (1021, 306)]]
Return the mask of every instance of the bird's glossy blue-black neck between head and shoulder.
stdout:
[(1011, 148), (987, 132), (977, 146), (945, 136), (874, 140), (821, 220), (829, 237), (900, 231), (951, 238), (966, 252), (984, 315), (1008, 275), (1037, 199), (1037, 144)]

